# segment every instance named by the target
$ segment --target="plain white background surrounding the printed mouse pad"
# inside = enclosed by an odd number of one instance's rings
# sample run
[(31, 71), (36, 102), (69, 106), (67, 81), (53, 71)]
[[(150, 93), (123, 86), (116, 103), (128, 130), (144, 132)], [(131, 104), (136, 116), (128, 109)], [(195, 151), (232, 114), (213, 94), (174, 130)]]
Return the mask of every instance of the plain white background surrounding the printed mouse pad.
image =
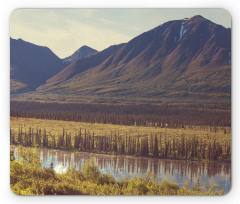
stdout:
[[(239, 0), (3, 0), (0, 12), (0, 203), (238, 203), (239, 182), (239, 115), (240, 115), (240, 1)], [(225, 8), (232, 15), (232, 189), (225, 196), (16, 196), (9, 185), (9, 16), (16, 8)]]

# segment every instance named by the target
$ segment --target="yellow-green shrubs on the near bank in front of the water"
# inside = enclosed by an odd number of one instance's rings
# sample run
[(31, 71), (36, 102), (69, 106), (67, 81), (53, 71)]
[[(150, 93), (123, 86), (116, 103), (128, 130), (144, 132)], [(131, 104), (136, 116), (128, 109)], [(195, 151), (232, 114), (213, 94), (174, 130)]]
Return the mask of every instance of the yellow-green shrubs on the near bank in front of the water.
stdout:
[(17, 195), (222, 195), (217, 185), (200, 185), (193, 189), (185, 182), (180, 188), (166, 180), (157, 182), (148, 174), (144, 178), (116, 181), (112, 175), (101, 174), (94, 161), (87, 162), (83, 170), (69, 169), (57, 174), (52, 167), (41, 168), (37, 151), (19, 147), (19, 161), (11, 152), (10, 187)]

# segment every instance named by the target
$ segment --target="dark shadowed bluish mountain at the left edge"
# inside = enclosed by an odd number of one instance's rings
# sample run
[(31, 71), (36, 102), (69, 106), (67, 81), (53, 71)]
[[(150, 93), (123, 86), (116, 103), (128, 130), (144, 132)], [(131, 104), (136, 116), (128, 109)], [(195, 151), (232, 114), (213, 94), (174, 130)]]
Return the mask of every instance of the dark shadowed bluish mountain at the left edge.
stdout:
[(49, 48), (10, 38), (11, 93), (35, 90), (63, 68)]

